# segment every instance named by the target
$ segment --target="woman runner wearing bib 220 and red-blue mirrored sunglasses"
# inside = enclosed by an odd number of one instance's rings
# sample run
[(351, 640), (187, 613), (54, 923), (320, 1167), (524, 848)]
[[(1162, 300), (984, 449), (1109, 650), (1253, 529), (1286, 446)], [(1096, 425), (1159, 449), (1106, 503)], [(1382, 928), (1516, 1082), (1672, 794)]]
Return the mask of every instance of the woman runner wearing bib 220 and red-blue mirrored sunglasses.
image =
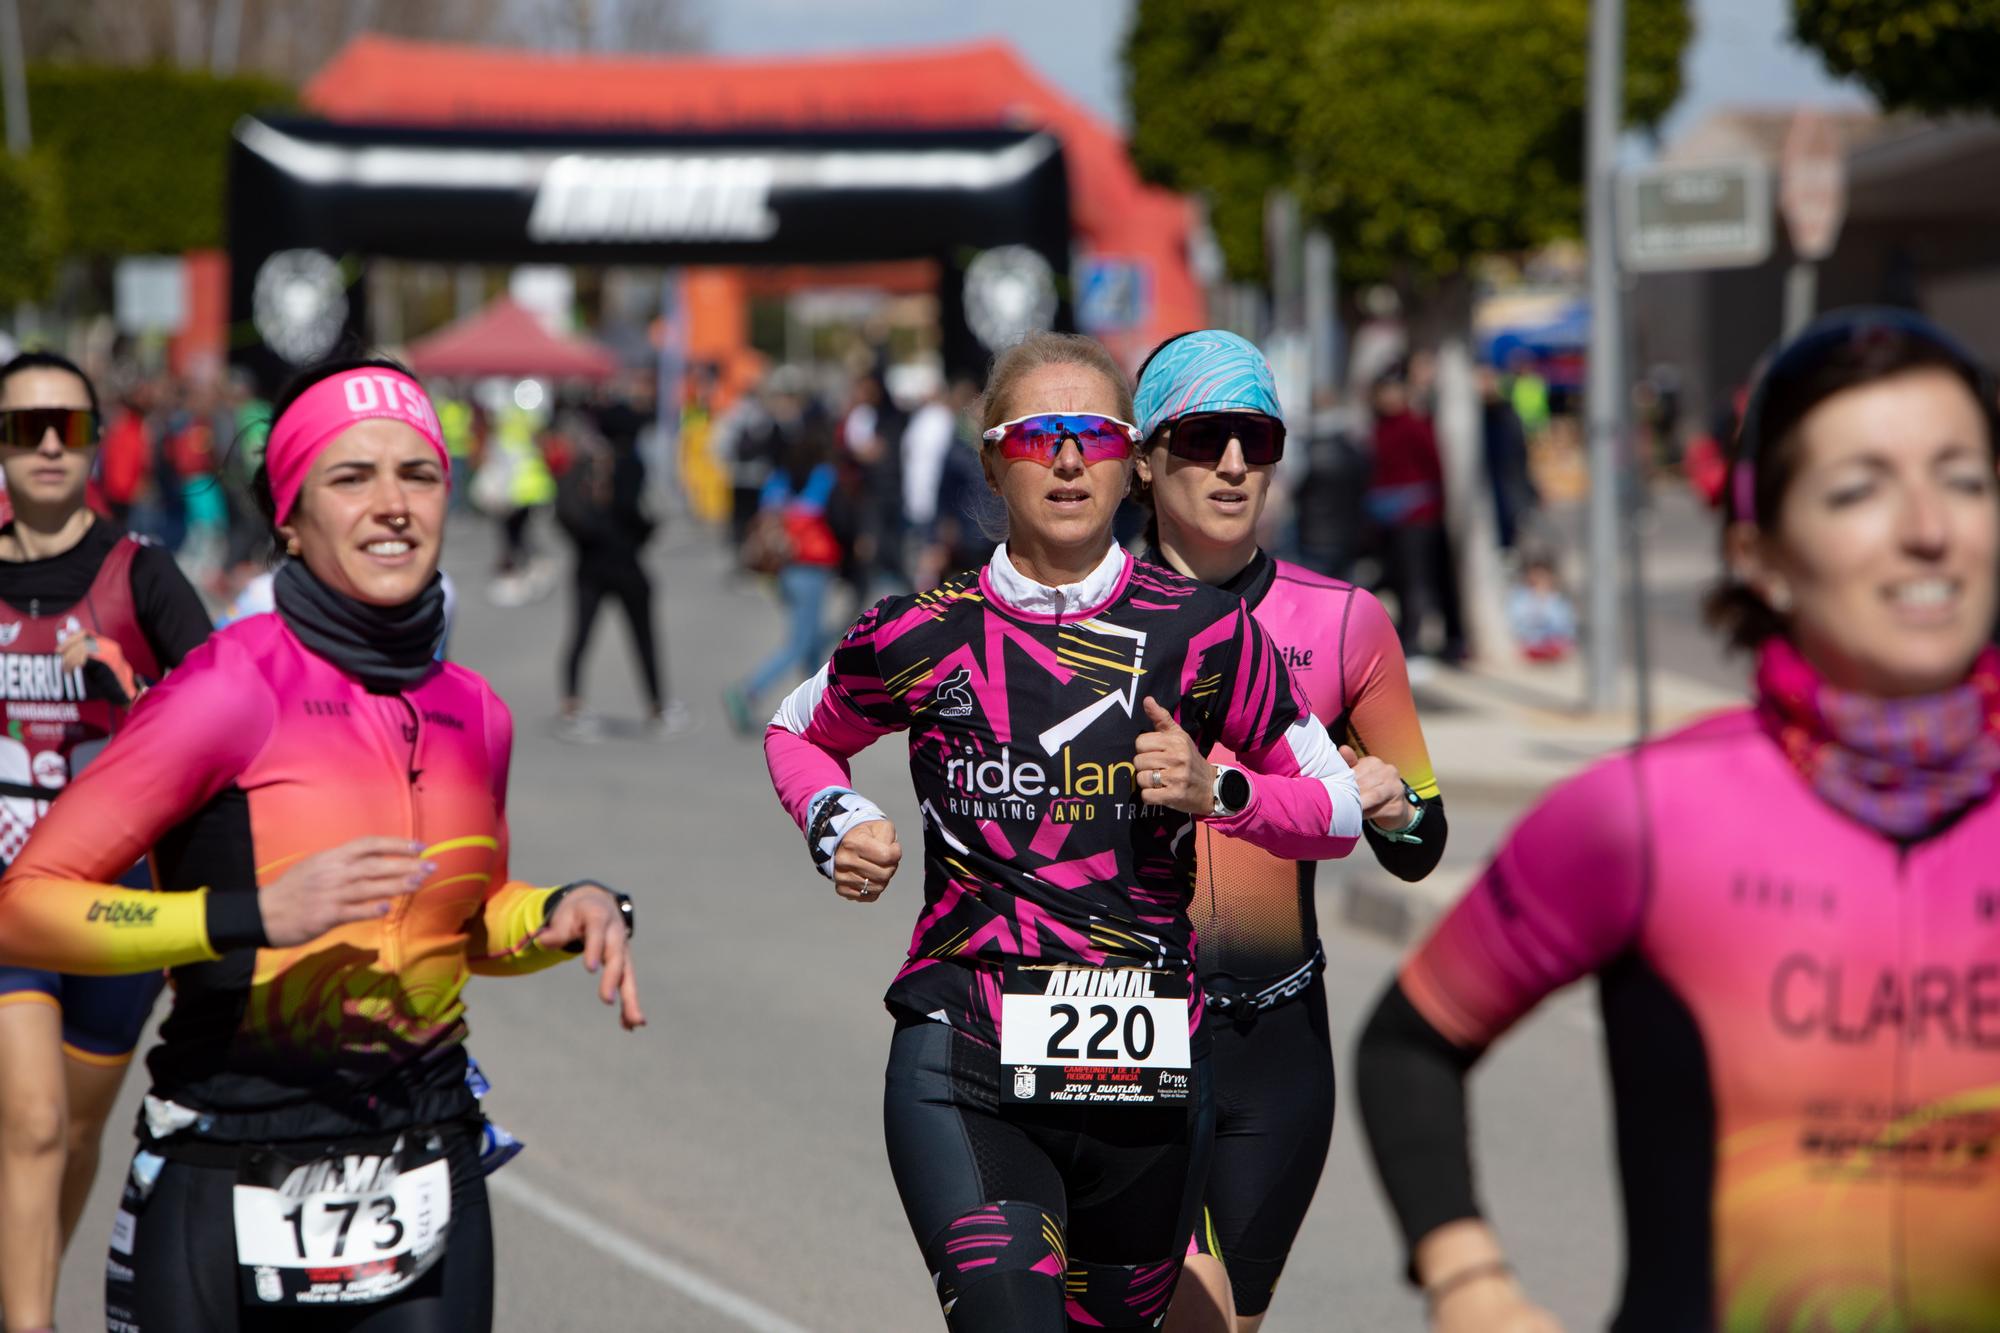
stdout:
[(1130, 414), (1088, 338), (1004, 352), (982, 462), (1006, 542), (878, 602), (764, 743), (814, 865), (874, 903), (902, 847), (848, 761), (910, 733), (924, 903), (884, 1127), (956, 1333), (1158, 1327), (1212, 1129), (1190, 835), (1360, 837), (1352, 773), (1242, 602), (1112, 544)]

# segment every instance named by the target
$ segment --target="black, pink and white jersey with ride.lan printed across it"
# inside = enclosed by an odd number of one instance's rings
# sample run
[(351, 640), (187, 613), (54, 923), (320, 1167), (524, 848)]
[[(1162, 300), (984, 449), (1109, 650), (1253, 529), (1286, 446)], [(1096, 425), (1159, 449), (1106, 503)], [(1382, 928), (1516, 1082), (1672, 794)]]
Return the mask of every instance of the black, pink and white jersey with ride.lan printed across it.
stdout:
[(890, 1005), (994, 1041), (1006, 963), (1192, 971), (1196, 821), (1140, 801), (1142, 699), (1204, 753), (1240, 757), (1250, 805), (1206, 823), (1292, 859), (1352, 849), (1354, 775), (1242, 600), (1116, 548), (1066, 588), (1022, 578), (1002, 548), (886, 598), (786, 701), (766, 755), (822, 869), (842, 821), (880, 817), (846, 759), (910, 733), (924, 911)]

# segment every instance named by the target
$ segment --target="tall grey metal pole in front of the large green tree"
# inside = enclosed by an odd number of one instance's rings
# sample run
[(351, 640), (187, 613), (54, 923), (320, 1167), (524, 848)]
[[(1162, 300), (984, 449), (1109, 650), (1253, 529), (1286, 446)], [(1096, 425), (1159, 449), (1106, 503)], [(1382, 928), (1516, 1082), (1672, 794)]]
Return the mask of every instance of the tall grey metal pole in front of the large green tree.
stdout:
[(1624, 308), (1618, 290), (1618, 236), (1612, 220), (1618, 122), (1624, 108), (1624, 0), (1590, 4), (1588, 236), (1590, 378), (1586, 386), (1590, 458), (1590, 695), (1594, 713), (1618, 697), (1618, 424), (1624, 420)]

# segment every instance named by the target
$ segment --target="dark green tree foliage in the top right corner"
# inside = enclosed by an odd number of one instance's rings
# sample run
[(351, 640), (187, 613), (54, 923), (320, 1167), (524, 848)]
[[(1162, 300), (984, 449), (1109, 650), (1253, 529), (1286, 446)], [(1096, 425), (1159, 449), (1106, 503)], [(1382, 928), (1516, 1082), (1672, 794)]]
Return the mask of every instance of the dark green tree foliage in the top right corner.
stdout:
[(1888, 110), (2000, 112), (2000, 0), (1792, 0), (1792, 36)]

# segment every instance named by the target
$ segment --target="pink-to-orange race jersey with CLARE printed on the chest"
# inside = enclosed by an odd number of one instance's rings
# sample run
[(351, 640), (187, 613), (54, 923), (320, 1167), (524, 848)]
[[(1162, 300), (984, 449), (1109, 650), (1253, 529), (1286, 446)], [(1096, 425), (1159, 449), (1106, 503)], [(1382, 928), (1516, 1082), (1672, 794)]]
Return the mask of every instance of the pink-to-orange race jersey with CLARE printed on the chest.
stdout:
[(1480, 1049), (1596, 973), (1620, 1329), (2000, 1329), (2000, 801), (1892, 841), (1748, 711), (1558, 787), (1402, 971)]

